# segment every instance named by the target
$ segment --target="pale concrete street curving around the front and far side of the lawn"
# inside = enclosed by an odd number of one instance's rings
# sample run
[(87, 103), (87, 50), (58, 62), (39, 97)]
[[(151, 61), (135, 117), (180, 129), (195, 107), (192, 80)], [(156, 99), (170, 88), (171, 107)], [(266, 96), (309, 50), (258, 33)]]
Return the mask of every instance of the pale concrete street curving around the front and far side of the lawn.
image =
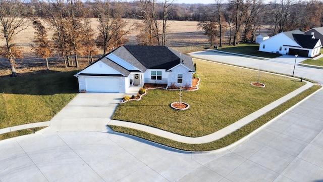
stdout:
[[(287, 59), (212, 52), (192, 56), (288, 73)], [(245, 65), (248, 64), (248, 65)], [(323, 82), (323, 70), (295, 75)], [(290, 74), (290, 73), (289, 73)], [(114, 132), (52, 132), (0, 141), (0, 181), (321, 181), (323, 91), (242, 144), (219, 151), (173, 150)]]

